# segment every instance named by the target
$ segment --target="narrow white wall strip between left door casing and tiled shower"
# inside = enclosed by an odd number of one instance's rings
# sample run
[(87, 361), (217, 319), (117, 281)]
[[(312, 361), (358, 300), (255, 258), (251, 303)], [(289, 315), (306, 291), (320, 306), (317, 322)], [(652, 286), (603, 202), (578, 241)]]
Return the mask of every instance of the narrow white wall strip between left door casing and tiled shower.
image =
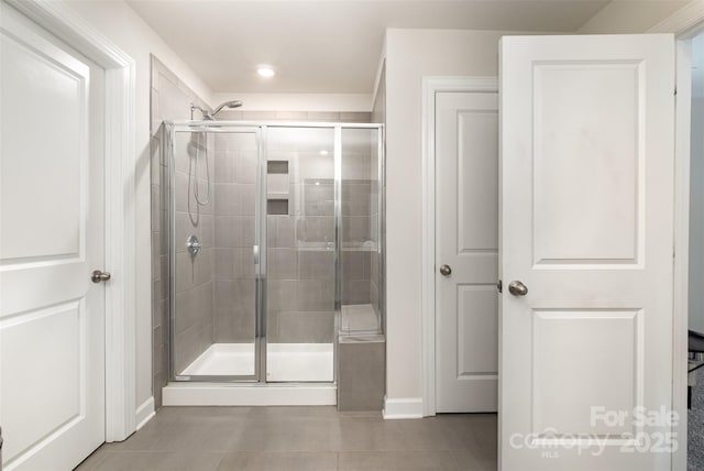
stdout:
[[(136, 405), (152, 397), (152, 283), (150, 206), (150, 54), (154, 54), (205, 100), (210, 89), (122, 0), (67, 1), (92, 28), (136, 63)], [(185, 110), (185, 117), (189, 110)], [(109, 269), (109, 267), (108, 267)]]

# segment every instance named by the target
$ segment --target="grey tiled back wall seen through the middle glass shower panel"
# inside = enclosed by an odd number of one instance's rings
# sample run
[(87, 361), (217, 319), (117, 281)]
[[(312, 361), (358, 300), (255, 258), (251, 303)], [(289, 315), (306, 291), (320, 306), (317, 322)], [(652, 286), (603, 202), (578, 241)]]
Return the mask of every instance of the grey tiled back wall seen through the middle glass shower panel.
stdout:
[[(272, 129), (267, 174), (267, 338), (280, 343), (332, 343), (334, 336), (334, 131)], [(271, 199), (270, 205), (276, 205)]]

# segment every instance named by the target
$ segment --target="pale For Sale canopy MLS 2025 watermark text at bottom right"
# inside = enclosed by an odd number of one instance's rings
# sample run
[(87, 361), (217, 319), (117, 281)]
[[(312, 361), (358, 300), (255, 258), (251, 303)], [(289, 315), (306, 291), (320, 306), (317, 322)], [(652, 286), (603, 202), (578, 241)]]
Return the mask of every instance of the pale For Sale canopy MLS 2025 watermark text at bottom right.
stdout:
[[(607, 446), (616, 446), (622, 453), (673, 453), (678, 450), (678, 434), (672, 431), (680, 423), (674, 410), (660, 407), (650, 410), (636, 407), (632, 410), (613, 410), (604, 406), (590, 409), (591, 427), (631, 430), (616, 434), (560, 432), (548, 427), (535, 434), (513, 434), (509, 446), (514, 449), (539, 450), (540, 457), (554, 459), (560, 451), (576, 450), (578, 454), (604, 454)], [(667, 431), (666, 431), (667, 430)]]

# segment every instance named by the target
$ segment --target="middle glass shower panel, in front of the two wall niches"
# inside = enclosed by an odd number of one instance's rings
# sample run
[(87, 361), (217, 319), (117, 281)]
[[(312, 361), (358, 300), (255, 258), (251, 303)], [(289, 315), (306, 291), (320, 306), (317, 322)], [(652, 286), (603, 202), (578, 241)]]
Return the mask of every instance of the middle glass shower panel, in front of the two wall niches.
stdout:
[(266, 381), (332, 382), (336, 130), (266, 132)]

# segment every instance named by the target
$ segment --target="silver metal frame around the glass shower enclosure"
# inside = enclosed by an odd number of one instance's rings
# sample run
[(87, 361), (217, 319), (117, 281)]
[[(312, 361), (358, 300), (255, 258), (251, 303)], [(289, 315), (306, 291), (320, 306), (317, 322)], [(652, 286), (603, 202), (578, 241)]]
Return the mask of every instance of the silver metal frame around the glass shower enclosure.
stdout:
[[(169, 193), (167, 200), (168, 213), (168, 263), (169, 263), (169, 381), (176, 382), (212, 382), (212, 383), (231, 383), (232, 385), (310, 385), (310, 384), (337, 384), (338, 382), (338, 353), (339, 353), (339, 335), (340, 318), (342, 309), (342, 131), (344, 129), (376, 129), (377, 130), (377, 150), (378, 150), (378, 247), (382, 252), (380, 258), (380, 277), (385, 278), (384, 263), (384, 188), (385, 188), (385, 138), (384, 125), (376, 123), (340, 123), (340, 122), (292, 122), (292, 121), (165, 121), (164, 136), (166, 145), (164, 152), (168, 151), (167, 171)], [(267, 382), (266, 381), (266, 353), (267, 353), (267, 321), (266, 321), (266, 291), (267, 291), (267, 131), (270, 128), (323, 128), (332, 129), (334, 132), (334, 241), (336, 248), (333, 253), (334, 260), (334, 320), (333, 320), (333, 380), (332, 382)], [(208, 133), (254, 133), (257, 144), (256, 160), (256, 183), (255, 183), (255, 230), (254, 245), (258, 248), (258, 253), (253, 254), (255, 271), (255, 336), (254, 336), (254, 375), (183, 375), (175, 371), (175, 313), (176, 313), (176, 218), (175, 218), (175, 134), (177, 132), (208, 132)], [(380, 286), (381, 288), (381, 286)], [(380, 289), (380, 309), (384, 309), (383, 289)], [(382, 316), (382, 314), (380, 314)], [(385, 331), (385, 316), (378, 319), (380, 329)]]

